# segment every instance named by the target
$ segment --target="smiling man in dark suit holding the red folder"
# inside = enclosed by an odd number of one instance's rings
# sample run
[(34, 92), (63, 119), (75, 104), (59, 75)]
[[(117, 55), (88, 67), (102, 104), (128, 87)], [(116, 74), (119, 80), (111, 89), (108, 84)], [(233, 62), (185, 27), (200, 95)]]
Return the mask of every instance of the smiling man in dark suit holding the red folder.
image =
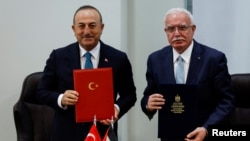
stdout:
[[(73, 70), (84, 68), (86, 52), (91, 53), (94, 68), (113, 69), (114, 121), (128, 112), (137, 100), (129, 59), (124, 52), (100, 40), (103, 28), (101, 13), (95, 7), (80, 7), (74, 14), (72, 25), (77, 42), (53, 50), (46, 61), (37, 98), (55, 110), (52, 141), (83, 141), (93, 123), (75, 121), (75, 104), (79, 93), (74, 90)], [(110, 119), (97, 122), (101, 137), (110, 124)], [(114, 124), (114, 130), (117, 134), (117, 122)]]

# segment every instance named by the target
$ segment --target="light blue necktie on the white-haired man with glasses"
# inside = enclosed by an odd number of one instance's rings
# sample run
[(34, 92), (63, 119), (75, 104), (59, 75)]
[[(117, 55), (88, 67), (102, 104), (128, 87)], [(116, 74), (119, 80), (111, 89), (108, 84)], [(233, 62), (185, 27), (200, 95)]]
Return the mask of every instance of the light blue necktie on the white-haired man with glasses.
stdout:
[(176, 67), (176, 83), (184, 84), (184, 60), (181, 56), (177, 58), (177, 67)]

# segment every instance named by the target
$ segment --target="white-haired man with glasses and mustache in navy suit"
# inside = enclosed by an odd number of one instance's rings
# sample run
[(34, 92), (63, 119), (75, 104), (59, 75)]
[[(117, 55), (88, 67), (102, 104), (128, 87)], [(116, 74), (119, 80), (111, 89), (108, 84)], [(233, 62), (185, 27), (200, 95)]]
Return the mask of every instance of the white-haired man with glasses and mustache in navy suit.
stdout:
[(222, 123), (234, 107), (227, 59), (224, 53), (193, 39), (196, 26), (189, 11), (182, 8), (170, 9), (164, 23), (170, 45), (148, 57), (147, 87), (141, 99), (141, 108), (152, 119), (157, 110), (161, 110), (169, 102), (159, 93), (159, 88), (162, 84), (178, 85), (175, 78), (176, 60), (181, 56), (184, 61), (183, 83), (195, 85), (198, 90), (198, 126), (184, 138), (158, 137), (161, 141), (202, 141), (206, 138), (208, 126)]

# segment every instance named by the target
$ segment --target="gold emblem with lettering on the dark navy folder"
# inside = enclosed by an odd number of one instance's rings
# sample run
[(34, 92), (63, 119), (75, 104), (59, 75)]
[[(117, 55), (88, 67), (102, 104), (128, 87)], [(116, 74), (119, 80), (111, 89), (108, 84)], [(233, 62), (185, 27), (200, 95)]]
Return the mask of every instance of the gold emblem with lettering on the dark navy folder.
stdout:
[(185, 106), (181, 102), (181, 97), (177, 94), (174, 100), (175, 101), (171, 105), (171, 112), (174, 114), (181, 114), (182, 112), (185, 111), (184, 110)]

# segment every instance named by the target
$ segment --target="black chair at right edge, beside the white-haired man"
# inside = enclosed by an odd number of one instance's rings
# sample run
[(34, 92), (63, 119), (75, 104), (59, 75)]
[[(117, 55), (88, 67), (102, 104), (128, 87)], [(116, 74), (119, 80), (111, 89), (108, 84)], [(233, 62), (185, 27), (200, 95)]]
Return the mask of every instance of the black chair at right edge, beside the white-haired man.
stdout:
[(232, 125), (250, 125), (250, 73), (232, 74), (235, 110), (229, 118)]

